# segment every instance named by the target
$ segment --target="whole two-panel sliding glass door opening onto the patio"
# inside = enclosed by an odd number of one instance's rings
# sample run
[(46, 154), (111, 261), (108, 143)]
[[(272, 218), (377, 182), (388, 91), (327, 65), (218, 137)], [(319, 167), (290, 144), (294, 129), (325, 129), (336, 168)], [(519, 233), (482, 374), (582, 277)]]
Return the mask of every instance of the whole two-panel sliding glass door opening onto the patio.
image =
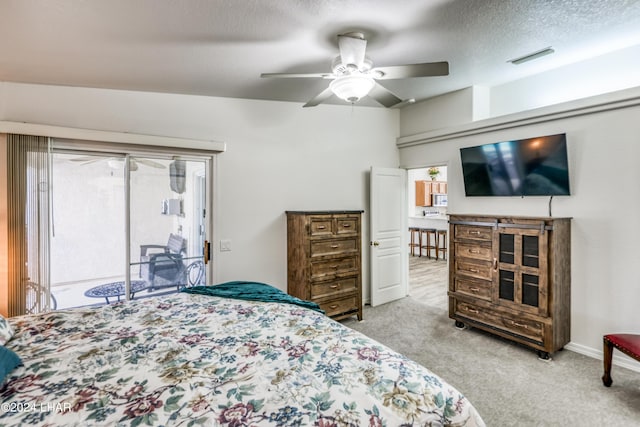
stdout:
[(54, 149), (51, 158), (58, 309), (206, 283), (211, 157)]

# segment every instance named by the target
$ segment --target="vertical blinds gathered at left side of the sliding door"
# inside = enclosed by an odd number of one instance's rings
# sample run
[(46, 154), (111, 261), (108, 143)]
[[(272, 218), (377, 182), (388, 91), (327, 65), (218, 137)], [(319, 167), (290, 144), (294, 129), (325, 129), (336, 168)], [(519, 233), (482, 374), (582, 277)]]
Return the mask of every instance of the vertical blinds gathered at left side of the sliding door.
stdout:
[(49, 138), (7, 135), (7, 168), (9, 316), (55, 309), (49, 279)]

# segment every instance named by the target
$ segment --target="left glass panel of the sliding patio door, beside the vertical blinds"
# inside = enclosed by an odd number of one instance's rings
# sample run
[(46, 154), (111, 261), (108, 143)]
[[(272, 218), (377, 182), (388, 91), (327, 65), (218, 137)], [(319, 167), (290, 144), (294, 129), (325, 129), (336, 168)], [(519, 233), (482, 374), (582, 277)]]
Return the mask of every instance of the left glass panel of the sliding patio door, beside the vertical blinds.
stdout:
[(51, 293), (58, 308), (95, 304), (85, 291), (124, 273), (124, 156), (52, 156)]

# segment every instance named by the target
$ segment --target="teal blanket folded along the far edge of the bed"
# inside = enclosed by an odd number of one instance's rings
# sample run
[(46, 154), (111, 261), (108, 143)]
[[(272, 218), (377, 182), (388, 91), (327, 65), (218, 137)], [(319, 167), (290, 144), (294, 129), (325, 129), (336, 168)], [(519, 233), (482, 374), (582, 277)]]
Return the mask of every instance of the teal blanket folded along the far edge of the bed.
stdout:
[(235, 281), (213, 286), (193, 286), (184, 288), (181, 292), (249, 301), (284, 302), (310, 308), (324, 314), (324, 310), (315, 302), (293, 297), (265, 283)]

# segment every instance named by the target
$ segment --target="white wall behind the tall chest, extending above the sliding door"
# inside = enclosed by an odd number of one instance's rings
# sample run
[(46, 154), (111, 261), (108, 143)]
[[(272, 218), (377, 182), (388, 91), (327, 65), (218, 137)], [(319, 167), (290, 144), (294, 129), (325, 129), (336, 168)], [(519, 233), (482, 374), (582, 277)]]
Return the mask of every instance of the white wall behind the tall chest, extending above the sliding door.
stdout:
[(0, 96), (0, 120), (225, 142), (215, 233), (232, 251), (213, 244), (220, 281), (286, 289), (285, 210), (365, 210), (368, 242), (369, 168), (398, 166), (397, 110), (12, 83)]

